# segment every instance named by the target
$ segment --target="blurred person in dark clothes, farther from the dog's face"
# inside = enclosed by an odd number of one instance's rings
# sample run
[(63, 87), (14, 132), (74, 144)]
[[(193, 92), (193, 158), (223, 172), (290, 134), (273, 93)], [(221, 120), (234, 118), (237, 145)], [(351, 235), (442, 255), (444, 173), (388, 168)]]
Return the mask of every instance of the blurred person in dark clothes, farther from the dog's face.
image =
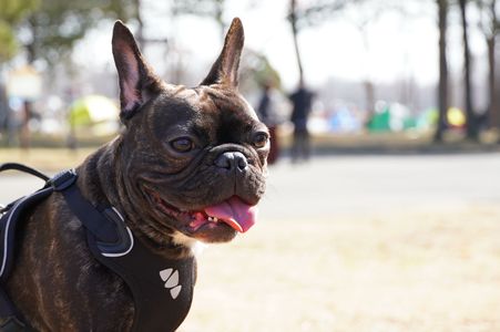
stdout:
[(292, 162), (308, 160), (310, 157), (310, 139), (307, 131), (307, 120), (310, 113), (314, 94), (307, 90), (300, 80), (298, 89), (289, 95), (293, 104), (290, 121), (294, 124), (294, 141), (292, 143)]

